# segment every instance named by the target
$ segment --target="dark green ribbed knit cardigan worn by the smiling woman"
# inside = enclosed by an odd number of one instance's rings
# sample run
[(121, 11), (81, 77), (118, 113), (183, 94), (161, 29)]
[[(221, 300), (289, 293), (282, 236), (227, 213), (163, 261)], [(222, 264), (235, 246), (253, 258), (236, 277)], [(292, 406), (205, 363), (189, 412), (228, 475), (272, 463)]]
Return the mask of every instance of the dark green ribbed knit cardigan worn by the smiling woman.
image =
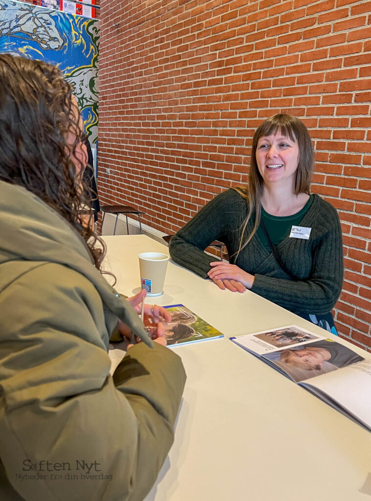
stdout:
[[(203, 252), (213, 240), (223, 241), (229, 256), (238, 250), (239, 230), (247, 215), (246, 200), (234, 189), (217, 195), (170, 241), (172, 259), (208, 278), (210, 263)], [(254, 216), (246, 234), (252, 230)], [(276, 246), (286, 268), (301, 280), (292, 281), (266, 250), (256, 233), (235, 264), (255, 276), (251, 291), (294, 313), (328, 313), (341, 292), (343, 278), (341, 228), (336, 209), (318, 195), (300, 221), (311, 227), (308, 240), (287, 236)], [(233, 259), (231, 260), (233, 262)]]

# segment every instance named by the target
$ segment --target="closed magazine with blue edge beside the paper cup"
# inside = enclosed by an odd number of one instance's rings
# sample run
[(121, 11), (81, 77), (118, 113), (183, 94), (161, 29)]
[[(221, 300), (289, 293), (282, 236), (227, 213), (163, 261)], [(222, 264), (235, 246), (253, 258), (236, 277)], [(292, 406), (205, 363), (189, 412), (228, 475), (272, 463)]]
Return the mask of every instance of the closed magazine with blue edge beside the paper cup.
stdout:
[(171, 322), (164, 323), (167, 345), (196, 343), (205, 339), (222, 338), (224, 334), (209, 325), (183, 305), (164, 306)]

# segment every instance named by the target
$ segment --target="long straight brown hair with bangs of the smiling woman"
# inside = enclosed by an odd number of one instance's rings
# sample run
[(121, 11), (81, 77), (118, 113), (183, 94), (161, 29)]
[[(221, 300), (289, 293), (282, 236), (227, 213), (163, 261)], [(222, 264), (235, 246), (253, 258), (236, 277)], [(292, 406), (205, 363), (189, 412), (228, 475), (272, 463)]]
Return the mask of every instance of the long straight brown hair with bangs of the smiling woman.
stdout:
[[(256, 163), (257, 143), (261, 137), (270, 136), (277, 132), (290, 138), (291, 141), (296, 141), (299, 147), (298, 166), (295, 173), (295, 194), (310, 193), (310, 182), (314, 170), (314, 152), (308, 129), (298, 118), (292, 115), (279, 113), (267, 118), (267, 120), (264, 120), (264, 122), (259, 125), (252, 138), (250, 171), (247, 186), (234, 188), (248, 203), (248, 213), (241, 226), (239, 248), (236, 255), (238, 255), (243, 247), (248, 244), (260, 223), (263, 178), (261, 177)], [(254, 226), (252, 231), (247, 235), (246, 240), (243, 241), (246, 226), (254, 212)]]

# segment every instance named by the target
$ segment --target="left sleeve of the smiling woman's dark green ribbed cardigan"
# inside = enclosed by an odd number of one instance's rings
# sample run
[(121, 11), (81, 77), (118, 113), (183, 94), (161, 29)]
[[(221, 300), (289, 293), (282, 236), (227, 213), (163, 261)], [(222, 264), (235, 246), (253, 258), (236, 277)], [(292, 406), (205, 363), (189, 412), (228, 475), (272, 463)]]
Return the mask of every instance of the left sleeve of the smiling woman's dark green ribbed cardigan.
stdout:
[[(239, 200), (240, 199), (240, 200)], [(236, 203), (238, 200), (239, 203)], [(230, 189), (210, 200), (170, 240), (170, 256), (181, 266), (207, 279), (210, 263), (219, 261), (204, 250), (213, 240), (224, 243), (236, 216), (241, 214), (242, 198)]]

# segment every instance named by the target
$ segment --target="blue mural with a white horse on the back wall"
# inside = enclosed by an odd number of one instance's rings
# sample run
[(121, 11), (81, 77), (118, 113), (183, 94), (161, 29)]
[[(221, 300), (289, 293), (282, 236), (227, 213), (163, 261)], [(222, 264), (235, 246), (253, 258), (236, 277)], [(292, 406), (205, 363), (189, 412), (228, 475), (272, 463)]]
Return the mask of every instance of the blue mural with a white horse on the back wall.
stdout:
[(98, 139), (99, 21), (0, 0), (0, 52), (58, 66), (74, 88), (86, 133)]

